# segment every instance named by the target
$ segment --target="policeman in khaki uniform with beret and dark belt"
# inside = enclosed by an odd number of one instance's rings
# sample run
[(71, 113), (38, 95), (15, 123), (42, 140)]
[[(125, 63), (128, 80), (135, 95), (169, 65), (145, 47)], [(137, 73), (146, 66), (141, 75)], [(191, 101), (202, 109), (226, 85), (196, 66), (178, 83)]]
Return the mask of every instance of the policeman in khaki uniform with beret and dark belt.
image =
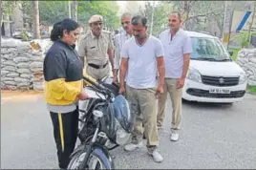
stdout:
[(110, 76), (114, 69), (114, 44), (111, 32), (103, 31), (103, 17), (93, 15), (89, 20), (91, 30), (80, 38), (78, 53), (86, 67), (86, 74), (96, 80)]

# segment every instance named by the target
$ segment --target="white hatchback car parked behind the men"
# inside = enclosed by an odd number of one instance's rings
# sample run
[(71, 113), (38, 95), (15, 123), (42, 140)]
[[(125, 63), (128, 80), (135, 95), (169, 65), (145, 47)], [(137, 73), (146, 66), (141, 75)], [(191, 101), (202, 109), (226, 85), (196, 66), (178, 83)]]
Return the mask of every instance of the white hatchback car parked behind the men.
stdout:
[(189, 101), (233, 103), (243, 100), (245, 71), (235, 63), (220, 39), (201, 32), (187, 32), (193, 53), (182, 90)]

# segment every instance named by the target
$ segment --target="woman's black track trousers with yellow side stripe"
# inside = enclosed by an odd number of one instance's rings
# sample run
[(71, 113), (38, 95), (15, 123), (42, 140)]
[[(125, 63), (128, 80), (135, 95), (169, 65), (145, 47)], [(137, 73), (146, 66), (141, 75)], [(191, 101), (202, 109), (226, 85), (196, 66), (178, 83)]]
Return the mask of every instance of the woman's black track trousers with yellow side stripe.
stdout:
[(53, 121), (53, 137), (57, 148), (59, 168), (67, 168), (75, 149), (78, 132), (78, 107), (69, 113), (50, 112)]

